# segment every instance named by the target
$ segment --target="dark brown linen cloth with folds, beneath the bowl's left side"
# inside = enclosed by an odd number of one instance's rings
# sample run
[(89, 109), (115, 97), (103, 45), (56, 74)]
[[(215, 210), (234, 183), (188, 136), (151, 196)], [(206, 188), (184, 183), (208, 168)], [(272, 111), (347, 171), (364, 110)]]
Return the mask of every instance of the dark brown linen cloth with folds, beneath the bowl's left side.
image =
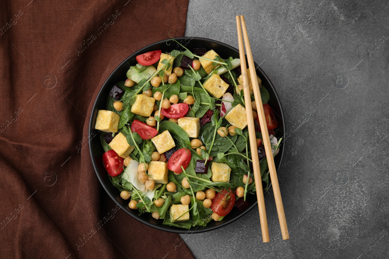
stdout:
[(92, 167), (98, 91), (136, 50), (185, 30), (188, 1), (0, 1), (0, 257), (194, 258), (117, 209)]

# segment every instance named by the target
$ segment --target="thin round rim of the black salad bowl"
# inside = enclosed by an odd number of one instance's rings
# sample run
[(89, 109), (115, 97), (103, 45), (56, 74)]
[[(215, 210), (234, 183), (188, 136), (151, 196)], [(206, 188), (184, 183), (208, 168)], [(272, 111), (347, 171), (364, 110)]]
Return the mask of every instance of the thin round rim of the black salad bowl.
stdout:
[[(219, 42), (217, 40), (212, 40), (212, 39), (209, 39), (209, 38), (201, 38), (201, 37), (176, 37), (175, 40), (179, 41), (179, 40), (186, 40), (186, 39), (190, 39), (190, 40), (199, 40), (199, 41), (207, 41), (207, 42), (212, 42), (214, 44), (218, 44), (218, 45), (221, 45), (223, 47), (226, 47), (228, 49), (231, 49), (232, 51), (236, 51), (239, 53), (239, 50), (236, 49), (235, 47), (232, 47), (231, 45), (228, 45), (226, 43), (223, 43), (223, 42)], [(115, 69), (114, 71), (112, 71), (112, 73), (108, 76), (108, 78), (105, 80), (105, 82), (103, 83), (102, 87), (100, 88), (97, 96), (96, 96), (96, 99), (94, 101), (94, 104), (93, 104), (93, 107), (92, 107), (92, 110), (91, 110), (91, 115), (90, 115), (90, 118), (89, 118), (89, 127), (88, 127), (88, 136), (91, 136), (94, 128), (92, 127), (92, 123), (93, 123), (93, 114), (95, 113), (96, 109), (97, 109), (97, 100), (99, 100), (102, 95), (103, 95), (103, 89), (105, 87), (107, 87), (107, 83), (111, 80), (111, 78), (114, 76), (114, 74), (116, 73), (117, 70), (119, 70), (119, 68), (121, 68), (121, 66), (123, 66), (125, 63), (128, 62), (128, 60), (130, 60), (132, 57), (134, 56), (137, 56), (138, 54), (142, 54), (144, 52), (144, 50), (146, 49), (149, 49), (150, 47), (153, 47), (154, 45), (159, 45), (159, 44), (163, 44), (163, 43), (166, 43), (168, 40), (171, 40), (171, 38), (168, 38), (168, 39), (165, 39), (165, 40), (160, 40), (158, 42), (154, 42), (154, 43), (151, 43), (145, 47), (143, 47), (142, 49), (139, 49), (137, 51), (135, 51), (133, 54), (131, 54), (130, 56), (128, 56), (122, 63), (120, 63)], [(247, 56), (246, 56), (246, 62), (247, 62)], [(279, 106), (280, 106), (280, 116), (282, 118), (282, 121), (283, 121), (283, 128), (284, 128), (284, 133), (285, 133), (285, 130), (286, 130), (286, 127), (285, 127), (285, 120), (284, 120), (284, 113), (283, 113), (283, 109), (282, 109), (282, 104), (281, 104), (281, 101), (280, 101), (280, 98), (277, 94), (277, 91), (272, 83), (272, 81), (270, 80), (270, 78), (266, 75), (265, 71), (263, 71), (259, 66), (258, 64), (254, 61), (254, 65), (256, 66), (256, 70), (259, 70), (262, 75), (264, 76), (264, 80), (266, 80), (267, 82), (269, 82), (269, 85), (270, 87), (272, 88), (273, 92), (274, 92), (274, 95), (275, 95), (275, 99), (277, 100), (277, 103), (279, 103)], [(163, 228), (161, 226), (158, 226), (158, 225), (154, 225), (152, 224), (151, 222), (145, 220), (145, 219), (142, 219), (140, 217), (134, 217), (133, 215), (131, 215), (129, 213), (129, 210), (126, 209), (126, 206), (124, 206), (123, 204), (121, 204), (119, 201), (117, 201), (116, 197), (109, 191), (109, 189), (107, 188), (107, 186), (105, 185), (104, 183), (104, 180), (102, 178), (102, 176), (100, 176), (99, 172), (98, 172), (98, 168), (97, 168), (97, 165), (96, 165), (96, 161), (93, 159), (93, 150), (91, 148), (91, 144), (92, 144), (92, 138), (88, 138), (88, 144), (89, 144), (89, 154), (91, 156), (91, 161), (92, 161), (92, 164), (93, 164), (93, 169), (95, 170), (95, 173), (96, 173), (96, 176), (98, 178), (98, 180), (100, 181), (100, 184), (103, 186), (105, 192), (110, 196), (110, 198), (121, 208), (123, 209), (128, 215), (130, 215), (131, 217), (133, 217), (134, 219), (142, 222), (143, 224), (147, 225), (147, 226), (150, 226), (152, 228), (155, 228), (155, 229), (158, 229), (158, 230), (162, 230), (162, 231), (166, 231), (166, 232), (172, 232), (172, 233), (178, 233), (178, 234), (188, 234), (188, 233), (203, 233), (203, 232), (207, 232), (207, 231), (211, 231), (211, 230), (215, 230), (215, 229), (218, 229), (218, 228), (222, 228), (234, 221), (236, 221), (237, 219), (239, 219), (240, 217), (244, 216), (245, 214), (247, 214), (247, 212), (251, 211), (254, 207), (257, 206), (258, 204), (258, 201), (255, 201), (253, 202), (251, 205), (249, 205), (249, 207), (244, 210), (243, 212), (241, 212), (240, 214), (238, 214), (237, 216), (231, 218), (230, 220), (226, 221), (226, 222), (223, 222), (221, 224), (218, 224), (216, 226), (212, 226), (212, 227), (209, 227), (209, 228), (202, 228), (202, 229), (183, 229), (183, 228), (177, 228), (177, 227), (170, 227), (170, 228)], [(284, 156), (284, 150), (285, 150), (285, 141), (283, 143), (283, 148), (281, 150), (281, 153), (279, 154), (280, 155), (280, 163), (279, 163), (279, 166), (277, 168), (277, 175), (278, 175), (278, 170), (282, 164), (282, 158)], [(269, 188), (272, 186), (272, 183), (269, 184)], [(266, 192), (264, 192), (264, 195), (266, 195)]]

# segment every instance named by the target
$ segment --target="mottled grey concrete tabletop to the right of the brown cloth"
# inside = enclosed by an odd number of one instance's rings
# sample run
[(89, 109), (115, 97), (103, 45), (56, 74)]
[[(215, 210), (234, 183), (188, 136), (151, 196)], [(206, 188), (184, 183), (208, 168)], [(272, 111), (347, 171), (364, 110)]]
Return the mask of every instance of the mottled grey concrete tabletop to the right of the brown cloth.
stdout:
[(182, 235), (196, 258), (389, 258), (388, 10), (386, 0), (190, 0), (186, 36), (238, 47), (235, 15), (245, 15), (290, 133), (279, 170), (290, 239), (281, 238), (271, 194), (270, 243), (253, 209), (224, 228)]

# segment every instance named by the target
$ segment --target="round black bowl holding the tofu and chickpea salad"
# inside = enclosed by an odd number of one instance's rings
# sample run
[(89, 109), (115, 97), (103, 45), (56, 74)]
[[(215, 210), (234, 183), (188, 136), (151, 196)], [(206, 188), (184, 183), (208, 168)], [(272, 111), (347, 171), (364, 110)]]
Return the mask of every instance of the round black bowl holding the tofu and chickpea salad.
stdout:
[[(233, 58), (239, 58), (239, 51), (237, 49), (225, 43), (218, 42), (216, 40), (210, 40), (206, 38), (196, 38), (196, 37), (195, 38), (180, 37), (180, 38), (176, 38), (176, 40), (181, 42), (182, 45), (185, 45), (189, 50), (192, 50), (193, 48), (205, 48), (207, 50), (213, 49), (222, 58), (228, 58), (230, 56)], [(151, 226), (156, 229), (164, 230), (164, 231), (174, 232), (174, 233), (201, 233), (201, 232), (221, 228), (237, 220), (238, 218), (242, 217), (244, 214), (249, 212), (249, 210), (256, 207), (257, 205), (256, 195), (247, 196), (247, 200), (250, 203), (250, 205), (244, 211), (241, 212), (237, 209), (237, 207), (234, 207), (232, 211), (220, 222), (211, 221), (207, 224), (207, 226), (199, 226), (187, 230), (183, 228), (176, 228), (173, 226), (166, 226), (162, 224), (163, 220), (157, 220), (152, 218), (151, 213), (144, 213), (142, 215), (138, 215), (138, 210), (131, 210), (130, 208), (128, 208), (129, 201), (120, 198), (120, 191), (111, 184), (108, 178), (108, 174), (104, 169), (103, 162), (102, 162), (102, 155), (104, 153), (104, 150), (100, 142), (100, 137), (98, 137), (99, 136), (98, 130), (95, 130), (97, 112), (98, 110), (105, 110), (108, 94), (112, 86), (115, 85), (117, 82), (126, 80), (126, 72), (130, 67), (130, 65), (134, 66), (135, 64), (137, 64), (135, 57), (139, 54), (152, 51), (152, 50), (159, 50), (159, 49), (162, 50), (163, 53), (165, 51), (170, 52), (173, 49), (182, 49), (182, 47), (179, 47), (178, 44), (173, 42), (172, 40), (162, 40), (160, 42), (152, 43), (151, 45), (148, 45), (147, 47), (138, 50), (130, 57), (128, 57), (126, 60), (124, 60), (112, 72), (112, 74), (107, 78), (107, 80), (103, 84), (103, 87), (98, 93), (95, 104), (93, 105), (91, 118), (89, 120), (89, 136), (94, 136), (93, 132), (95, 132), (96, 134), (96, 137), (89, 138), (89, 151), (91, 153), (93, 167), (95, 168), (95, 172), (100, 183), (103, 185), (105, 191), (107, 191), (108, 195), (112, 198), (112, 200), (114, 200), (114, 202), (116, 202), (117, 205), (119, 205), (121, 209), (127, 212), (131, 217), (137, 219), (138, 221), (148, 226)], [(272, 82), (265, 74), (265, 72), (258, 66), (258, 64), (255, 64), (255, 66), (257, 67), (256, 69), (257, 75), (262, 80), (262, 85), (266, 87), (266, 89), (270, 94), (270, 100), (268, 104), (272, 107), (272, 109), (275, 111), (275, 114), (277, 116), (277, 121), (278, 121), (277, 136), (284, 136), (285, 133), (284, 115), (282, 113), (282, 107), (277, 92)], [(282, 143), (282, 145), (280, 146), (280, 152), (274, 159), (277, 170), (280, 167), (283, 154), (284, 154), (284, 143)]]

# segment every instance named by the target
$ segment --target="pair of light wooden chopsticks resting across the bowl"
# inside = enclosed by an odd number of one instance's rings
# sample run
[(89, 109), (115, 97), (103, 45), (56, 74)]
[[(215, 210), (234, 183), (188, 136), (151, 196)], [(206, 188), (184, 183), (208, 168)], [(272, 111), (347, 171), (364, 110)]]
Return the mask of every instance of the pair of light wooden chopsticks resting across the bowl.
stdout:
[[(262, 239), (263, 242), (267, 243), (269, 239), (269, 230), (267, 225), (266, 210), (265, 210), (265, 199), (263, 198), (263, 188), (262, 188), (262, 178), (261, 170), (259, 169), (259, 158), (258, 152), (253, 152), (257, 150), (256, 136), (255, 136), (255, 127), (254, 119), (252, 117), (252, 106), (251, 106), (251, 97), (250, 89), (248, 85), (247, 78), (247, 67), (246, 67), (246, 58), (244, 54), (243, 38), (242, 38), (242, 28), (243, 28), (243, 37), (246, 46), (247, 52), (247, 61), (250, 68), (251, 84), (254, 91), (255, 103), (258, 111), (259, 125), (261, 126), (261, 132), (263, 137), (263, 144), (265, 146), (265, 153), (267, 162), (269, 165), (270, 179), (272, 180), (275, 205), (277, 207), (278, 218), (280, 221), (282, 239), (289, 239), (289, 232), (286, 225), (284, 206), (282, 205), (280, 186), (278, 184), (277, 172), (275, 170), (274, 157), (272, 151), (272, 145), (270, 144), (269, 132), (266, 125), (265, 112), (263, 111), (261, 93), (259, 92), (258, 81), (256, 80), (257, 74), (254, 66), (254, 59), (252, 58), (252, 52), (249, 42), (249, 35), (247, 34), (246, 22), (244, 16), (237, 16), (237, 30), (238, 30), (238, 42), (239, 42), (239, 56), (240, 56), (240, 68), (242, 70), (242, 75), (244, 76), (243, 91), (244, 99), (247, 113), (247, 127), (249, 129), (249, 139), (250, 139), (250, 148), (252, 165), (254, 169), (254, 180), (257, 192), (258, 199), (258, 209), (259, 209), (259, 219), (261, 221), (261, 230), (262, 230)], [(240, 23), (242, 22), (242, 28)]]

